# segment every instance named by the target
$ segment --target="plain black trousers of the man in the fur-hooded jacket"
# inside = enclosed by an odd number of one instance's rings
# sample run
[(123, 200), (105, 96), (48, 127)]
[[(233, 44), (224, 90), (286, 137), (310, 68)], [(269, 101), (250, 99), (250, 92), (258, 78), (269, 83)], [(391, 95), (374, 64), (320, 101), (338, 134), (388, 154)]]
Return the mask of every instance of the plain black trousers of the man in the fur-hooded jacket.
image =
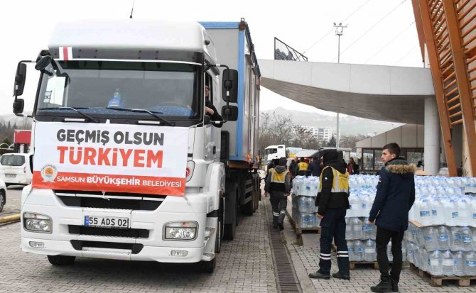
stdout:
[[(386, 256), (386, 245), (391, 239), (391, 254), (394, 256), (394, 264), (391, 266), (389, 275), (389, 258)], [(392, 280), (399, 282), (401, 272), (401, 241), (404, 239), (404, 231), (390, 231), (377, 227), (377, 262), (382, 278), (391, 277)], [(382, 279), (383, 280), (383, 279)]]

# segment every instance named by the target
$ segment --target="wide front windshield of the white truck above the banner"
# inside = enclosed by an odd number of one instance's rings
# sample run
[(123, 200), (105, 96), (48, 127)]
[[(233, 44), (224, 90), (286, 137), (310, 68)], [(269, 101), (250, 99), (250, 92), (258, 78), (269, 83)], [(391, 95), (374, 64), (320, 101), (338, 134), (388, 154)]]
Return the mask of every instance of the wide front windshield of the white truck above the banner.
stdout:
[[(198, 116), (198, 65), (171, 62), (53, 61), (41, 77), (36, 115), (134, 116), (153, 119), (144, 109), (171, 119)], [(109, 109), (108, 109), (109, 108)]]

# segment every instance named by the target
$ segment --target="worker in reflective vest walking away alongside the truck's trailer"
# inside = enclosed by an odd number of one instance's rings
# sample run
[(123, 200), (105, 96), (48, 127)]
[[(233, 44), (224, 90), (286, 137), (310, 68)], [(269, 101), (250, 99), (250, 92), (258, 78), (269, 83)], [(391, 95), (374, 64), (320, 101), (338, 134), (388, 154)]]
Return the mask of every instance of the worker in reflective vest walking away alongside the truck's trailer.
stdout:
[(269, 170), (264, 191), (270, 194), (273, 208), (273, 227), (283, 230), (284, 216), (288, 204), (289, 190), (291, 189), (291, 174), (286, 169), (286, 157), (280, 157), (278, 165)]

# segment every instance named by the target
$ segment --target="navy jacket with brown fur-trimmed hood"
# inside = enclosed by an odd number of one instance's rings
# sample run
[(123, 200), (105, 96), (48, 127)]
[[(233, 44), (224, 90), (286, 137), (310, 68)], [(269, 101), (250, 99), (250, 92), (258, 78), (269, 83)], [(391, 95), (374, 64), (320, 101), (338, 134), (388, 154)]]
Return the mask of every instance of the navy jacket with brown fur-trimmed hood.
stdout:
[(409, 211), (415, 201), (415, 166), (396, 158), (380, 170), (377, 195), (370, 210), (369, 221), (390, 231), (409, 227)]

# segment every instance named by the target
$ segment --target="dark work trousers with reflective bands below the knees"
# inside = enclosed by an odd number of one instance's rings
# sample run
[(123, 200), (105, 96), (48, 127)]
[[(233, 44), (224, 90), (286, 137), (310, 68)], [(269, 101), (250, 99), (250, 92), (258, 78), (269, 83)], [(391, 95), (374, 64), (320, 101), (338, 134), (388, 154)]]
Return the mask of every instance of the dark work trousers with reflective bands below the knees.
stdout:
[(337, 265), (342, 275), (350, 275), (349, 251), (345, 241), (345, 209), (328, 209), (320, 221), (319, 271), (330, 275), (330, 246), (332, 238), (337, 245)]

